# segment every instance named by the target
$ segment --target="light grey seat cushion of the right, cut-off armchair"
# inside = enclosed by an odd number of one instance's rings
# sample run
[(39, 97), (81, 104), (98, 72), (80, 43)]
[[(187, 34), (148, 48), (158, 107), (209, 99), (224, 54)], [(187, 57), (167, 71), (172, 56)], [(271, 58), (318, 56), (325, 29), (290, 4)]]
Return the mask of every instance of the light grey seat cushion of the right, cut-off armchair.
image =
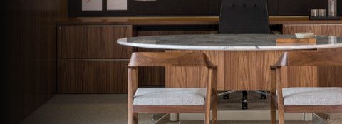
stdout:
[(284, 105), (342, 105), (342, 88), (283, 88)]

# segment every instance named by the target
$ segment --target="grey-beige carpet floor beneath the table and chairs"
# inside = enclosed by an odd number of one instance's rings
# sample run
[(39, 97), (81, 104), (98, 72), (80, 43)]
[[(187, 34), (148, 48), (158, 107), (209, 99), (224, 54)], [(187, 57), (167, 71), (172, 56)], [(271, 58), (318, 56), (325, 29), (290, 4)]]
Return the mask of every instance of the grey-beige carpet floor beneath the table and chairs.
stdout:
[[(249, 110), (269, 110), (269, 98), (259, 99), (259, 94), (249, 93)], [(229, 100), (219, 99), (219, 110), (242, 110), (241, 93), (229, 95)], [(155, 120), (162, 116), (156, 114)], [(138, 122), (153, 123), (152, 114), (140, 113)], [(331, 113), (331, 124), (342, 123), (342, 113)], [(126, 94), (60, 94), (28, 115), (21, 124), (124, 124), (127, 123)], [(185, 124), (204, 123), (203, 120), (181, 120)], [(218, 123), (266, 124), (269, 120), (219, 120)], [(286, 120), (286, 123), (311, 123), (304, 120)], [(169, 123), (175, 124), (175, 123)]]

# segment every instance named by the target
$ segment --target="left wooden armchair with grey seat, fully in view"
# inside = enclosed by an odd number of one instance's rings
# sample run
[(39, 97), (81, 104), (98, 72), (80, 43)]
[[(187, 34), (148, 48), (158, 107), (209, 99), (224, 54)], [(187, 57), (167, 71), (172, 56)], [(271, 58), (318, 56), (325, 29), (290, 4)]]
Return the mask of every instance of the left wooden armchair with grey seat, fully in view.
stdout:
[[(138, 88), (140, 66), (206, 66), (207, 88)], [(206, 124), (217, 121), (217, 66), (204, 53), (133, 53), (128, 64), (128, 123), (138, 113), (205, 113)]]

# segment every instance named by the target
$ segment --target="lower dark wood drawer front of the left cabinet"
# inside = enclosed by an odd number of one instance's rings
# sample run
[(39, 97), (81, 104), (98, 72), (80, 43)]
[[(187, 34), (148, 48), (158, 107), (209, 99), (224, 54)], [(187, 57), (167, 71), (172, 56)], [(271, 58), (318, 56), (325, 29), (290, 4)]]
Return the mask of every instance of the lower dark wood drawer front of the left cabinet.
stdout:
[(128, 61), (58, 61), (57, 93), (127, 93)]

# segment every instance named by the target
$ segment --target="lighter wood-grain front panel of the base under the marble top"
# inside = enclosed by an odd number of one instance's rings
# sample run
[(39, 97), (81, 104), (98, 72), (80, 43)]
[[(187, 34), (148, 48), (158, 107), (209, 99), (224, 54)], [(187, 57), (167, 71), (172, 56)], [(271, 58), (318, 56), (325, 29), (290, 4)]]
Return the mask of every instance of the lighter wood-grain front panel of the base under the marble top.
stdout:
[[(202, 52), (218, 66), (218, 90), (270, 90), (271, 71), (269, 66), (276, 63), (285, 51), (178, 51)], [(205, 68), (166, 68), (166, 87), (204, 86)], [(282, 68), (282, 85), (317, 86), (316, 67)], [(200, 77), (197, 77), (200, 76)], [(288, 78), (287, 78), (288, 77)], [(177, 80), (176, 80), (177, 79)], [(301, 82), (301, 83), (294, 83)], [(175, 83), (174, 83), (175, 82)]]

